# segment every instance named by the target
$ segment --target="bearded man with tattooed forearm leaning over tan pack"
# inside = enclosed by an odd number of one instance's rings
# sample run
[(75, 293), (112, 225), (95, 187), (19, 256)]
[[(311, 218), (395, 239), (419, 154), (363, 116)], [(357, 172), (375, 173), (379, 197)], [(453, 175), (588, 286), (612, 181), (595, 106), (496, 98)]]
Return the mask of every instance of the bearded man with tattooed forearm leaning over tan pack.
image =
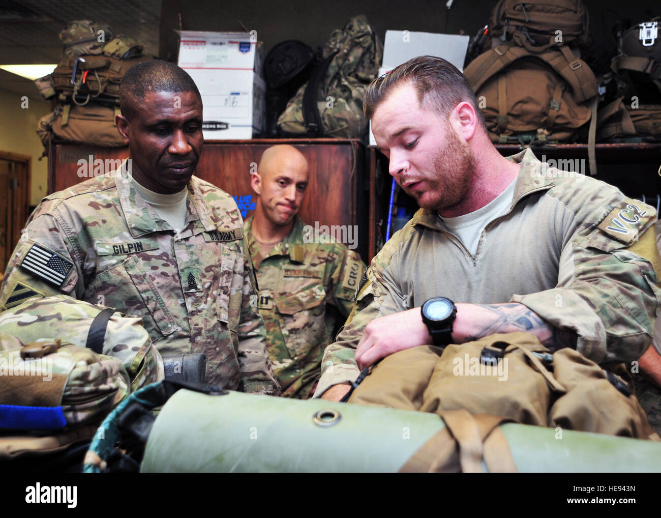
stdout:
[(469, 83), (441, 58), (375, 79), (365, 113), (422, 208), (368, 267), (315, 396), (338, 400), (359, 367), (432, 343), (420, 306), (434, 296), (456, 304), (452, 343), (527, 331), (598, 363), (641, 357), (661, 293), (652, 207), (531, 150), (502, 157)]

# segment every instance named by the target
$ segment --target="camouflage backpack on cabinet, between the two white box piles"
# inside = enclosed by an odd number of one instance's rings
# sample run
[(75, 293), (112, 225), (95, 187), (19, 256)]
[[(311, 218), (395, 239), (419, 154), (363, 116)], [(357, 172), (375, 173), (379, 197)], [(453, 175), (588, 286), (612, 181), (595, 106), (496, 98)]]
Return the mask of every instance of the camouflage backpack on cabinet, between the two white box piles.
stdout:
[(278, 118), (282, 136), (360, 138), (368, 127), (363, 95), (377, 75), (383, 44), (364, 15), (335, 30), (323, 61)]

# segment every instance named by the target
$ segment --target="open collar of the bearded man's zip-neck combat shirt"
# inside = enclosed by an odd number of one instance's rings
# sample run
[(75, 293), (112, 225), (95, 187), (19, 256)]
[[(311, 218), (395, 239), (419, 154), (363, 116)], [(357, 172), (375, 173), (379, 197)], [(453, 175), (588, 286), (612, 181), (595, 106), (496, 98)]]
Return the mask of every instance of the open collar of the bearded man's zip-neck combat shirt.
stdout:
[[(516, 155), (511, 155), (507, 159), (520, 164), (519, 175), (514, 185), (514, 198), (512, 199), (510, 210), (506, 213), (509, 214), (525, 196), (536, 193), (537, 191), (551, 189), (555, 185), (555, 182), (553, 181), (554, 177), (552, 174), (545, 174), (548, 168), (541, 167), (541, 161), (535, 157), (535, 153), (530, 148), (526, 148), (516, 153)], [(420, 208), (411, 219), (414, 226), (419, 224), (432, 229), (445, 230), (438, 218), (438, 212), (436, 210)]]

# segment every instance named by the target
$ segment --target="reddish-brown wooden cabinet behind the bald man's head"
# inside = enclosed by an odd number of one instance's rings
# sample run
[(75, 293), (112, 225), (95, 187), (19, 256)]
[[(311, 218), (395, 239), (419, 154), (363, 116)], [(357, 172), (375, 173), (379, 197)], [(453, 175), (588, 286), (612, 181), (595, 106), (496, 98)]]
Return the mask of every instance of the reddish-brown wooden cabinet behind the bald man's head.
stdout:
[[(309, 187), (299, 216), (311, 226), (357, 226), (358, 253), (368, 257), (368, 191), (364, 175), (366, 151), (360, 140), (350, 139), (253, 139), (216, 140), (204, 143), (196, 176), (239, 197), (239, 208), (253, 200), (251, 171), (269, 146), (292, 144), (307, 158)], [(128, 148), (94, 148), (53, 144), (49, 153), (48, 192), (61, 191), (87, 179), (79, 159), (86, 161), (128, 157)], [(81, 175), (79, 176), (79, 170)], [(247, 198), (247, 197), (250, 198)], [(371, 227), (370, 227), (371, 228)]]

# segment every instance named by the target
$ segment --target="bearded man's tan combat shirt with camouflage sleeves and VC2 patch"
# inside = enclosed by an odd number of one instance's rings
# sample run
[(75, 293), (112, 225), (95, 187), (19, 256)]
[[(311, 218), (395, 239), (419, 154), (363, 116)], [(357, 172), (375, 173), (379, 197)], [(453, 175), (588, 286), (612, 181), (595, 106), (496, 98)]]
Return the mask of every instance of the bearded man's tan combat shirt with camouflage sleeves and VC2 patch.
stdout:
[[(519, 302), (598, 363), (631, 362), (652, 340), (661, 292), (654, 208), (596, 179), (548, 168), (525, 150), (510, 210), (483, 229), (477, 252), (420, 209), (374, 257), (357, 302), (327, 347), (315, 396), (358, 376), (354, 352), (374, 318), (455, 302)], [(656, 271), (655, 271), (656, 269)]]

